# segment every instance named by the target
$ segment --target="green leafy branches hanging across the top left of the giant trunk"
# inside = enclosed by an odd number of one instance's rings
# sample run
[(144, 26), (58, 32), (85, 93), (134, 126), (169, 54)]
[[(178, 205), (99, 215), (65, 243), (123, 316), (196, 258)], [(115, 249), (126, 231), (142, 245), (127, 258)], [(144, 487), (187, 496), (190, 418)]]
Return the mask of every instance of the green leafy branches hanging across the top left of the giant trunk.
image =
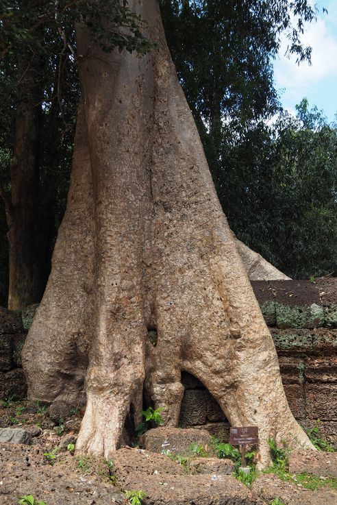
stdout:
[[(145, 21), (128, 8), (126, 1), (59, 0), (46, 3), (40, 0), (25, 9), (19, 3), (2, 0), (0, 58), (27, 45), (42, 49), (40, 36), (44, 30), (54, 30), (66, 49), (71, 49), (75, 46), (73, 27), (80, 21), (88, 25), (93, 40), (103, 51), (118, 47), (120, 51), (145, 53), (152, 47), (141, 32)], [(112, 28), (107, 29), (107, 26)]]

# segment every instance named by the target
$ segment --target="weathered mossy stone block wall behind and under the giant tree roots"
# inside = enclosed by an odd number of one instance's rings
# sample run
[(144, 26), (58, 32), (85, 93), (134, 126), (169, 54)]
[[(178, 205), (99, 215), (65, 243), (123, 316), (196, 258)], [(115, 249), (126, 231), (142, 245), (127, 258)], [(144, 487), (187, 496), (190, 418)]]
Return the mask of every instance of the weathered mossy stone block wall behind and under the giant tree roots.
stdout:
[[(320, 419), (323, 438), (337, 448), (337, 278), (251, 284), (274, 339), (292, 413), (304, 428)], [(0, 308), (0, 399), (26, 394), (20, 355), (35, 310)], [(180, 426), (227, 439), (229, 423), (203, 384), (188, 373), (182, 382)]]

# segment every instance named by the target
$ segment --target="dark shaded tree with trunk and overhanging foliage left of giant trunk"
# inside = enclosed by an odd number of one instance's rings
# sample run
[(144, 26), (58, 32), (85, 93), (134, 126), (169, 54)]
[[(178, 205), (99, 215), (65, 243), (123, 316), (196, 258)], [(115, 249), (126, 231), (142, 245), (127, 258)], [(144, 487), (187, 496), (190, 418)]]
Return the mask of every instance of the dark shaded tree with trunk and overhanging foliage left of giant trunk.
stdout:
[[(90, 14), (93, 37), (106, 49), (142, 52), (149, 46), (126, 2), (4, 0), (0, 5), (5, 97), (0, 196), (8, 226), (8, 307), (21, 309), (42, 297), (64, 212), (79, 97), (73, 49), (79, 12)], [(101, 19), (118, 29), (107, 34)], [(5, 238), (3, 223), (1, 234)]]

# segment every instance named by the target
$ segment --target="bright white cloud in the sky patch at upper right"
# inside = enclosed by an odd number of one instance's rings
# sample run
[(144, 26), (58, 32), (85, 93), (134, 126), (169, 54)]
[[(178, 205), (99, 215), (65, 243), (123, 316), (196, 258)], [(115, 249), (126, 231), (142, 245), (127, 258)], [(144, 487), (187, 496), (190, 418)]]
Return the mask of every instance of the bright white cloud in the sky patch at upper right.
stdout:
[(277, 88), (286, 88), (288, 97), (305, 96), (305, 90), (314, 88), (324, 79), (337, 78), (337, 33), (336, 9), (327, 16), (320, 16), (317, 23), (311, 23), (302, 36), (304, 45), (312, 47), (312, 65), (295, 63), (296, 58), (286, 58), (284, 53), (288, 39), (284, 37), (279, 57), (275, 61), (275, 83)]

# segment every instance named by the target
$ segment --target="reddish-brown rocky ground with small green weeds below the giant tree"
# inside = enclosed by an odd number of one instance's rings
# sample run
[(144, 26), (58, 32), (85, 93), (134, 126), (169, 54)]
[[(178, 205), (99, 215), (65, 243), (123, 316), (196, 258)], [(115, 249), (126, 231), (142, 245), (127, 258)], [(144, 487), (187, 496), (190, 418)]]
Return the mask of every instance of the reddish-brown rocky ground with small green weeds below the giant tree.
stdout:
[(164, 428), (151, 430), (152, 434), (143, 437), (145, 449), (118, 449), (111, 461), (76, 456), (73, 446), (82, 412), (62, 412), (63, 407), (60, 404), (48, 412), (44, 406), (27, 401), (4, 402), (0, 407), (0, 427), (23, 428), (32, 440), (31, 445), (0, 443), (1, 505), (15, 505), (24, 495), (33, 495), (47, 505), (127, 504), (125, 489), (144, 491), (145, 505), (337, 503), (336, 453), (293, 453), (291, 474), (279, 468), (277, 475), (275, 471), (260, 473), (249, 488), (228, 475), (233, 463), (215, 458), (214, 451), (208, 449), (207, 432), (200, 434), (199, 430), (205, 458), (187, 454), (186, 445), (184, 457), (179, 456), (179, 450), (171, 457), (154, 452), (160, 437), (166, 446), (174, 441), (177, 448), (182, 443), (179, 436), (190, 441), (195, 431), (188, 430), (185, 436), (185, 430), (171, 428), (166, 432)]

